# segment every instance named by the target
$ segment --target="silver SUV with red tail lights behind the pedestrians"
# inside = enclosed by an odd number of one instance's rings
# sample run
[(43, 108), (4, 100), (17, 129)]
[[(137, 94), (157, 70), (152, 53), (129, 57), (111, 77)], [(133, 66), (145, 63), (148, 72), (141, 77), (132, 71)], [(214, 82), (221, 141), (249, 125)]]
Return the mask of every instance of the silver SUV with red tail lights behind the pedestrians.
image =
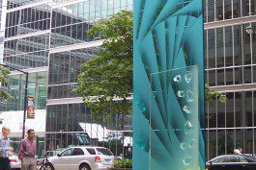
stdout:
[(106, 170), (114, 161), (111, 151), (103, 147), (71, 147), (48, 158), (47, 170)]

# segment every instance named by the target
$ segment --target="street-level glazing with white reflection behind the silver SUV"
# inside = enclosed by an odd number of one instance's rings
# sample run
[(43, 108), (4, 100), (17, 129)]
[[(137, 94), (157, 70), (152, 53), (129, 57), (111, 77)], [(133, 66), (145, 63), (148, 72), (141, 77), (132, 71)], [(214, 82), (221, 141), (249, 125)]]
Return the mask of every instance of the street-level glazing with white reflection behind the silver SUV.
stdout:
[[(132, 145), (130, 114), (126, 116), (117, 114), (108, 121), (103, 120), (102, 117), (100, 122), (95, 122), (90, 109), (84, 104), (48, 106), (47, 113), (47, 150), (67, 148), (72, 145), (98, 145), (120, 155), (123, 147)], [(122, 127), (119, 126), (120, 122), (124, 122)]]

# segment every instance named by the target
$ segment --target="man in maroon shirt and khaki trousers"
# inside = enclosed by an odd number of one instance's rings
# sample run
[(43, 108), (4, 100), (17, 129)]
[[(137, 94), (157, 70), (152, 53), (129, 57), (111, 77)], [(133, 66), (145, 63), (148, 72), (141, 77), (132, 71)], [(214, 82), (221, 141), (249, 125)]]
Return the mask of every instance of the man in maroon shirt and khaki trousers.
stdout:
[(21, 160), (21, 170), (36, 170), (36, 141), (35, 131), (28, 130), (27, 137), (19, 145), (18, 158)]

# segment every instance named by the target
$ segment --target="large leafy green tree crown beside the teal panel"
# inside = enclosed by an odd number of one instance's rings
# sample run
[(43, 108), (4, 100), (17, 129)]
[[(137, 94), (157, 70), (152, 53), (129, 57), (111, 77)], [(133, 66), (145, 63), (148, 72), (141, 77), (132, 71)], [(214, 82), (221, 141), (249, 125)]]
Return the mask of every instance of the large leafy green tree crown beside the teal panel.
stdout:
[[(103, 36), (97, 58), (81, 65), (75, 92), (95, 117), (103, 113), (127, 114), (131, 110), (128, 97), (132, 93), (133, 14), (122, 11), (101, 20), (88, 31), (88, 36)], [(99, 34), (100, 33), (100, 34)], [(118, 100), (118, 102), (117, 102)]]

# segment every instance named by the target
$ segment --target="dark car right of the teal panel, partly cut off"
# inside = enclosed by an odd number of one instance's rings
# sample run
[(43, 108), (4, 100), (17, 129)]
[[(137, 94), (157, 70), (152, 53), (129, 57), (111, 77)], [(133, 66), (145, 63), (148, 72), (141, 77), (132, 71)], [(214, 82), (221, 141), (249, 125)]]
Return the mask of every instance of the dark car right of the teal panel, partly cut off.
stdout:
[(207, 170), (256, 170), (253, 155), (226, 155), (209, 160)]

